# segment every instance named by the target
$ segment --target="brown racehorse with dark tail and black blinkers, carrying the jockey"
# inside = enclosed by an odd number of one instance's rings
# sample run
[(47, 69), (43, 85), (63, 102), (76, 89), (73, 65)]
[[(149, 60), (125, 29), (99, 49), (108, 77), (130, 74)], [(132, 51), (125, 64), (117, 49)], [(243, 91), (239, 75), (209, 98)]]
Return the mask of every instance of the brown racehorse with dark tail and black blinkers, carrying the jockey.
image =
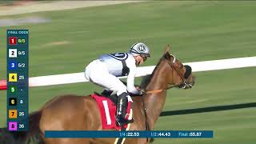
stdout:
[[(194, 77), (190, 66), (183, 66), (167, 46), (153, 74), (146, 82), (146, 94), (133, 97), (134, 122), (130, 130), (153, 130), (166, 101), (166, 90), (172, 87), (190, 88)], [(115, 138), (44, 138), (45, 130), (102, 130), (101, 116), (97, 103), (90, 96), (63, 95), (53, 98), (34, 114), (30, 114), (30, 131), (17, 137), (16, 141), (37, 134), (46, 144), (98, 144), (111, 143)], [(148, 143), (147, 138), (126, 138), (126, 144)], [(40, 143), (40, 142), (39, 142)]]

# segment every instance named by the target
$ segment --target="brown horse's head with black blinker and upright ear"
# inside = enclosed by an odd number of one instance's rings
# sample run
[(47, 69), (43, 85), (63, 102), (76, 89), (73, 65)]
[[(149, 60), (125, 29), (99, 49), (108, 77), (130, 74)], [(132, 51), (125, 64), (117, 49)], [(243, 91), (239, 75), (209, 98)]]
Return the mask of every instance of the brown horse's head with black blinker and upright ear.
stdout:
[(195, 77), (192, 76), (192, 69), (190, 66), (183, 66), (182, 62), (169, 52), (170, 46), (166, 47), (162, 58), (166, 60), (166, 65), (170, 66), (170, 77), (168, 83), (178, 88), (188, 89), (194, 86)]

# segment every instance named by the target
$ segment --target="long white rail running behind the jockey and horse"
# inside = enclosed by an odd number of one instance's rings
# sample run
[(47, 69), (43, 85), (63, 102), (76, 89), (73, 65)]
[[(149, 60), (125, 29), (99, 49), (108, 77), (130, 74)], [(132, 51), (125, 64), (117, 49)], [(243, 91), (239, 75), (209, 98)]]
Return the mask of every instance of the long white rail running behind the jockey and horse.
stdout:
[[(256, 57), (230, 58), (230, 59), (221, 59), (221, 60), (204, 61), (204, 62), (187, 62), (187, 63), (184, 63), (184, 65), (190, 65), (192, 67), (193, 72), (234, 69), (234, 68), (240, 68), (240, 67), (256, 66)], [(141, 76), (151, 74), (153, 70), (154, 70), (154, 66), (138, 67), (136, 77), (141, 77)], [(126, 77), (120, 77), (120, 78), (126, 78)], [(30, 86), (51, 86), (51, 85), (61, 85), (61, 84), (77, 83), (77, 82), (88, 82), (83, 72), (73, 73), (73, 74), (57, 74), (57, 75), (33, 77), (33, 78), (30, 78), (29, 81), (30, 81)]]

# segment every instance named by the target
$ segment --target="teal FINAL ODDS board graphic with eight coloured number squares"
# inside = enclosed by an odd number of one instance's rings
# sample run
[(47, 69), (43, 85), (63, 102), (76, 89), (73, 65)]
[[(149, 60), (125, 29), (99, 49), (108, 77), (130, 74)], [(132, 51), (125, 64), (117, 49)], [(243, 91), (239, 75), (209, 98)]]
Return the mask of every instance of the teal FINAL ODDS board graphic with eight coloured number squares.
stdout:
[(29, 30), (6, 31), (7, 127), (28, 130), (29, 114)]

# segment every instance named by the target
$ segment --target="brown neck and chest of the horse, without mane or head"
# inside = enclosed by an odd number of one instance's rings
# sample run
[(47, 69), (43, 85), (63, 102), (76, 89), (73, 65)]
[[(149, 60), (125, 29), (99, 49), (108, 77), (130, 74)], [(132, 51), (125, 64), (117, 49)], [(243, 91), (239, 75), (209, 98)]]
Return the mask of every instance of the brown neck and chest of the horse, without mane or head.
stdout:
[[(163, 65), (163, 66), (161, 66)], [(160, 68), (161, 67), (161, 68)], [(167, 87), (167, 77), (170, 74), (170, 67), (161, 63), (159, 69), (154, 72), (153, 77), (150, 80), (146, 90), (164, 90)], [(146, 94), (144, 98), (146, 114), (150, 129), (154, 128), (155, 122), (158, 120), (159, 115), (162, 112), (162, 107), (166, 101), (166, 90), (156, 94)]]

